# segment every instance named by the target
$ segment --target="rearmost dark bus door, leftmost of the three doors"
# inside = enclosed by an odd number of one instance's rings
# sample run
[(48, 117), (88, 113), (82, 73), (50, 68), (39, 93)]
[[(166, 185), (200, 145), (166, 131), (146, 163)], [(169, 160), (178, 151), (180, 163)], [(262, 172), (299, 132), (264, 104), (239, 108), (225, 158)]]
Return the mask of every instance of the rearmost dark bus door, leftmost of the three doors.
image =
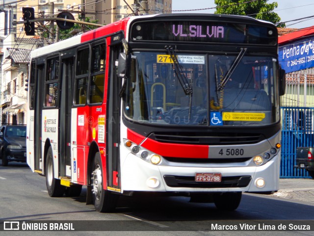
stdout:
[[(41, 58), (40, 58), (41, 59)], [(40, 60), (38, 59), (38, 60)], [(43, 108), (43, 93), (41, 90), (42, 80), (45, 78), (44, 64), (39, 65), (37, 61), (35, 84), (34, 84), (34, 164), (35, 170), (39, 173), (43, 171), (43, 157), (42, 157), (42, 108)]]

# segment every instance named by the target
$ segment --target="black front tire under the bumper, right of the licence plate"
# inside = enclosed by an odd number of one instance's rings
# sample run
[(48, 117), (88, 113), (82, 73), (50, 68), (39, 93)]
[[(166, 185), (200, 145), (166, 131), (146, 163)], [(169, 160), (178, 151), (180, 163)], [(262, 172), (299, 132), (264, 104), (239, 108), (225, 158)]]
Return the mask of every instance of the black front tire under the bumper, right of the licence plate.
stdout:
[(242, 192), (214, 194), (214, 204), (219, 210), (235, 210), (241, 202)]

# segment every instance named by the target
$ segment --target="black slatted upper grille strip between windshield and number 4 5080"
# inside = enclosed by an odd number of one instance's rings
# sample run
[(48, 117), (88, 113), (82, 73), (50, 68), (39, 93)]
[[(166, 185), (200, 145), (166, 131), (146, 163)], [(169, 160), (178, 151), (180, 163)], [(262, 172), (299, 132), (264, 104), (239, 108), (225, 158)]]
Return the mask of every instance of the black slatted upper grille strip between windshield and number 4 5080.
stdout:
[(149, 137), (162, 143), (199, 144), (199, 145), (238, 145), (254, 144), (262, 141), (258, 133), (152, 133)]

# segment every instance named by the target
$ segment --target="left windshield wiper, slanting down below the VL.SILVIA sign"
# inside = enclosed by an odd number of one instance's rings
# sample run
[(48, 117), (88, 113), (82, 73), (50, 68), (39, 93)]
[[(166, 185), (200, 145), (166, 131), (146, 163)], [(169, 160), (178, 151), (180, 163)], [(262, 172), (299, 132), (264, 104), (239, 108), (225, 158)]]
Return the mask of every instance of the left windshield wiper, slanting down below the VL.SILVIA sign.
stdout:
[(173, 60), (173, 66), (175, 74), (184, 90), (184, 93), (186, 95), (192, 94), (192, 87), (190, 86), (188, 79), (186, 79), (182, 67), (178, 61), (178, 57), (176, 53), (174, 52), (173, 48), (171, 46), (166, 46), (165, 49), (167, 50), (168, 54), (171, 56), (171, 59)]

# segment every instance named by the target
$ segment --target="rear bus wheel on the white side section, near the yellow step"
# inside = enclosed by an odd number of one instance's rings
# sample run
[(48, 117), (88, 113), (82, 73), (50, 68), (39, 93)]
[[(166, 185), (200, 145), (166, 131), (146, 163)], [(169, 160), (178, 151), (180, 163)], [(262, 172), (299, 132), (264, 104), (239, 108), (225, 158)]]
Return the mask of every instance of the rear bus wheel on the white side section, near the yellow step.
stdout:
[(52, 147), (49, 147), (46, 157), (46, 185), (48, 194), (51, 197), (62, 197), (65, 186), (60, 184), (59, 179), (54, 178), (53, 169)]

